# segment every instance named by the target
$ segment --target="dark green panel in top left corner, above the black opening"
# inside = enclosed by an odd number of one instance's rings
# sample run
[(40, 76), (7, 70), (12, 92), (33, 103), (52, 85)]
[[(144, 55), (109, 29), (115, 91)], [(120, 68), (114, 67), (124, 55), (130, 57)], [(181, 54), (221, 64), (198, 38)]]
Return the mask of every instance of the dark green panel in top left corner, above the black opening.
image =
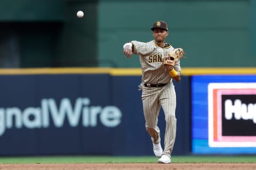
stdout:
[(65, 0), (1, 0), (0, 21), (62, 21)]

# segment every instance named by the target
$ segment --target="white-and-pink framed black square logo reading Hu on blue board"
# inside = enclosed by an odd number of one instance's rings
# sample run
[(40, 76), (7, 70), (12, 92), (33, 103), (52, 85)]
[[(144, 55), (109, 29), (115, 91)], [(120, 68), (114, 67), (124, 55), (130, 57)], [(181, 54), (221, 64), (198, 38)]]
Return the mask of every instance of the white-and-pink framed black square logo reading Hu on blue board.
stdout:
[(256, 147), (256, 83), (209, 83), (209, 146)]

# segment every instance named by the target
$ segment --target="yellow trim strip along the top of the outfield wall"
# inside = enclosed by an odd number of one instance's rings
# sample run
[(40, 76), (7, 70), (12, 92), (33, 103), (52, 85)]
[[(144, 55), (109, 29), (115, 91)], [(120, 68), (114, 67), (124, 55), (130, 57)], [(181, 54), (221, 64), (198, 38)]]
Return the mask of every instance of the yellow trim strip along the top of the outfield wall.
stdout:
[[(110, 75), (141, 75), (140, 68), (110, 67), (60, 67), (33, 69), (0, 69), (0, 75), (23, 74), (110, 74)], [(186, 67), (182, 75), (214, 75), (214, 74), (256, 74), (256, 67)]]

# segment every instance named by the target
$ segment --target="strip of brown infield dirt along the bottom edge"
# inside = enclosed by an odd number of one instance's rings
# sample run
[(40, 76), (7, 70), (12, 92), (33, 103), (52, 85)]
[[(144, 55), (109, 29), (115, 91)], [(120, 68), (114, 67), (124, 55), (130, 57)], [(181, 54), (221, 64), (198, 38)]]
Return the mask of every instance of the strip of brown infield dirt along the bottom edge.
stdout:
[(120, 164), (120, 163), (106, 163), (106, 164), (0, 164), (1, 170), (181, 170), (181, 169), (190, 169), (190, 170), (201, 170), (201, 169), (211, 169), (211, 170), (249, 170), (256, 169), (256, 163), (171, 163), (171, 164), (145, 164), (145, 163), (136, 163), (136, 164)]

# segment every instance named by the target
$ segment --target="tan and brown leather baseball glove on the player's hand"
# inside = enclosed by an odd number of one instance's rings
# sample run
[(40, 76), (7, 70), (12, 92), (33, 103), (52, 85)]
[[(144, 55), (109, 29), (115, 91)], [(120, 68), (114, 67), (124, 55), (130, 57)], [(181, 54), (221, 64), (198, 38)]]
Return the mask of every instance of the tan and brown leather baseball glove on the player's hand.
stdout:
[(170, 53), (167, 53), (163, 64), (167, 70), (172, 70), (174, 65), (183, 57), (184, 51), (182, 48), (175, 48)]

